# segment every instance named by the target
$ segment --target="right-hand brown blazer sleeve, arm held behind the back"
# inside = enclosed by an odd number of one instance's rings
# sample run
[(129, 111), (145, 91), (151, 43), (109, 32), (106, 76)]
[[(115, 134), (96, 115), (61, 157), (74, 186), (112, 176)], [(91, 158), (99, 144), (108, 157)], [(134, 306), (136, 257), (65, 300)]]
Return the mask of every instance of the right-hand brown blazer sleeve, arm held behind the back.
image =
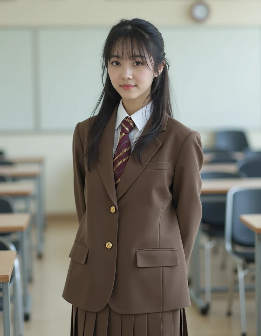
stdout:
[(198, 132), (191, 132), (182, 144), (173, 177), (173, 201), (187, 269), (202, 217), (200, 201), (202, 165), (201, 137)]

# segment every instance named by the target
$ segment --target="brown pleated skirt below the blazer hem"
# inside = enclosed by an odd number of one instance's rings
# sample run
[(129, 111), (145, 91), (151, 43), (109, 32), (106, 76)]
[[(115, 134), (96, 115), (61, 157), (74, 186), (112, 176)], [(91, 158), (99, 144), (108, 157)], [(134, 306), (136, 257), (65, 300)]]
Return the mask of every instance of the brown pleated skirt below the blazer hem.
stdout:
[(98, 312), (72, 306), (71, 336), (187, 336), (185, 310), (119, 314), (108, 304)]

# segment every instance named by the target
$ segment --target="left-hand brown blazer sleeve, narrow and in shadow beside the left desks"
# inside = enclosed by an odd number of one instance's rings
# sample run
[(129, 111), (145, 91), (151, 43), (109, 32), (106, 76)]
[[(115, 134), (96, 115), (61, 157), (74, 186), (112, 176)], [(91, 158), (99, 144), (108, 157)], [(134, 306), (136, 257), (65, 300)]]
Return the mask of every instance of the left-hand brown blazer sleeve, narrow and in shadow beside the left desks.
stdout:
[(73, 188), (74, 200), (79, 223), (86, 211), (84, 185), (85, 185), (85, 165), (84, 149), (79, 134), (79, 124), (75, 127), (72, 139), (72, 159), (73, 159)]

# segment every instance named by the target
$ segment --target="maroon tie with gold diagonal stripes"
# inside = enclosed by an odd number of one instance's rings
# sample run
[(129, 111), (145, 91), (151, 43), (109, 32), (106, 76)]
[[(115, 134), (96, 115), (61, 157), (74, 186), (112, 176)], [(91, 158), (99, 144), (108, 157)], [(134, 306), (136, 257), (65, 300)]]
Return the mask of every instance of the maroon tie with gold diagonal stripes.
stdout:
[(131, 154), (129, 132), (132, 131), (134, 127), (135, 124), (132, 118), (126, 117), (122, 120), (120, 139), (113, 158), (113, 172), (116, 188)]

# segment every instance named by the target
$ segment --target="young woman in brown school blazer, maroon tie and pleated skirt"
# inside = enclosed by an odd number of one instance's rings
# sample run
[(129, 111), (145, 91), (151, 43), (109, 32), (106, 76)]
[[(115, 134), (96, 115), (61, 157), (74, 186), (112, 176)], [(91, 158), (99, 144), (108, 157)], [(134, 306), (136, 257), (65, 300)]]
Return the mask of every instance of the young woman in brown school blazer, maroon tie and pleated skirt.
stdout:
[(158, 29), (120, 20), (104, 89), (73, 135), (79, 229), (63, 298), (71, 336), (188, 335), (187, 266), (201, 220), (201, 138), (172, 118)]

